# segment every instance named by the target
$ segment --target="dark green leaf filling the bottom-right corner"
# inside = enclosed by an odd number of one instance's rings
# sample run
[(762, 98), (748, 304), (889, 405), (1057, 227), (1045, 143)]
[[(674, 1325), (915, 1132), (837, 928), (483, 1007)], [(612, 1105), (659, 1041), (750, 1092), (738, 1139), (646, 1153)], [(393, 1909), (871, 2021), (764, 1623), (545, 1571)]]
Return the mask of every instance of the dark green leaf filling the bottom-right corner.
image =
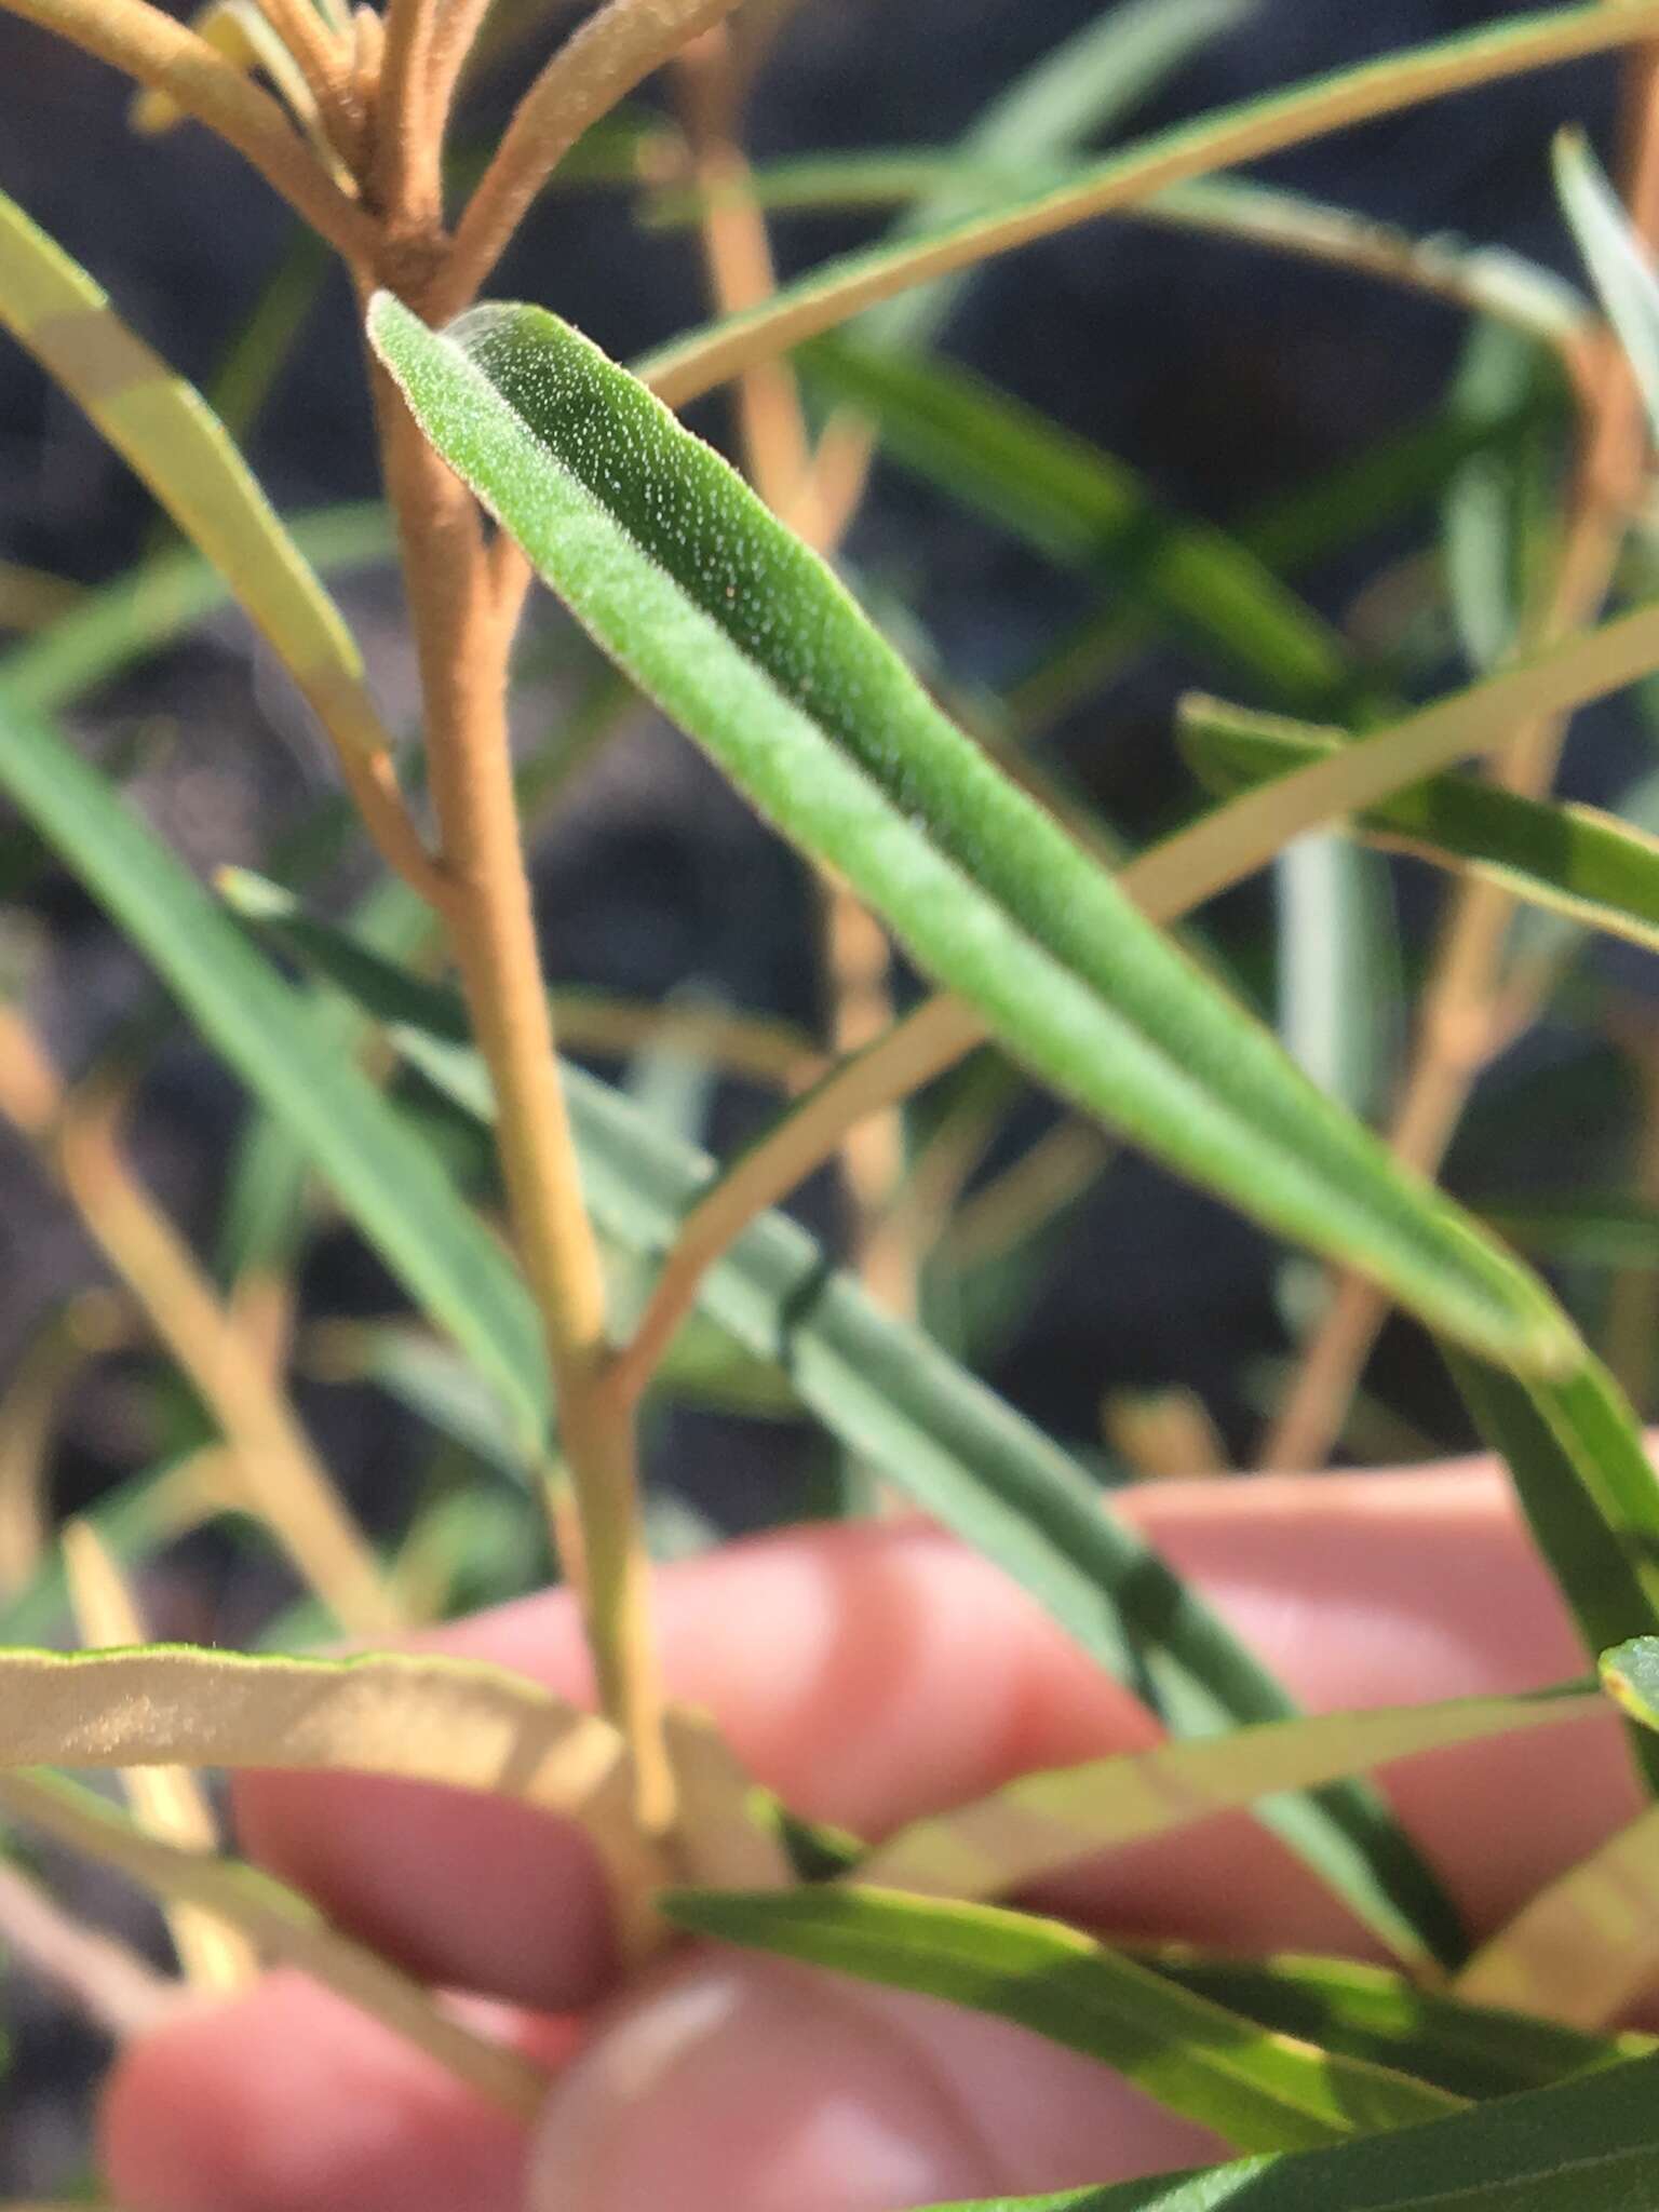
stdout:
[(1334, 2150), (929, 2212), (1644, 2212), (1659, 2057)]

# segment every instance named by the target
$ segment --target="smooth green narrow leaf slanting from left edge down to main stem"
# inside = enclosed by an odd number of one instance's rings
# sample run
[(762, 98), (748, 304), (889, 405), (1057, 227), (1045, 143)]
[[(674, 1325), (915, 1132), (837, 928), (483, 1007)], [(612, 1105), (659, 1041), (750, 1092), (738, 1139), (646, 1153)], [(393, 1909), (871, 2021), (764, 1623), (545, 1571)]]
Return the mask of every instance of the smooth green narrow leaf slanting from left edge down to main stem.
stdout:
[(431, 1152), (338, 1053), (296, 991), (49, 723), (0, 690), (0, 790), (159, 971), (201, 1033), (294, 1130), (341, 1208), (411, 1298), (546, 1425), (529, 1292)]

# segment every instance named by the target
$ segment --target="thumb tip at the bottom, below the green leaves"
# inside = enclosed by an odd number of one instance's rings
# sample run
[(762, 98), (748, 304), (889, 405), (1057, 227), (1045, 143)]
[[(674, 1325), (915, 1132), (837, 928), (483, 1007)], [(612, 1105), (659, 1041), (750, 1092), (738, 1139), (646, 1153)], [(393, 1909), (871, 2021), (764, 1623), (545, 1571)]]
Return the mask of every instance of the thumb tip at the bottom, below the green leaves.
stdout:
[(900, 2212), (1219, 2154), (1022, 2028), (706, 1953), (602, 2015), (538, 2126), (529, 2212)]

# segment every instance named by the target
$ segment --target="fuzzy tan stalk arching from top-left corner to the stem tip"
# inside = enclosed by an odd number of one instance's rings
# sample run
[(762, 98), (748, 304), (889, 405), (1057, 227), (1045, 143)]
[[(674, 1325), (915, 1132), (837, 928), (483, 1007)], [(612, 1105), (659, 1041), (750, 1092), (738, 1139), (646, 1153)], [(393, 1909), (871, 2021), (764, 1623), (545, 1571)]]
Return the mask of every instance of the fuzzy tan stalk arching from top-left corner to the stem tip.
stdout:
[(217, 131), (347, 261), (367, 261), (369, 217), (327, 177), (281, 106), (148, 0), (0, 0), (84, 53), (166, 93)]

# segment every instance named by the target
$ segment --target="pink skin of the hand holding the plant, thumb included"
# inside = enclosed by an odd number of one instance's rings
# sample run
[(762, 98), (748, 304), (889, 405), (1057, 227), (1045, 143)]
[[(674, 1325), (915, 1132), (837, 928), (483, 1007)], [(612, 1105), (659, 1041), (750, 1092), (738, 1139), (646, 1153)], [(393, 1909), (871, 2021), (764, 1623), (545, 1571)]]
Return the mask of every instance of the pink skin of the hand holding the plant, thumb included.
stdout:
[[(1121, 1511), (1310, 1708), (1584, 1672), (1484, 1462), (1157, 1484)], [(659, 1621), (672, 1692), (708, 1705), (792, 1805), (867, 1836), (1155, 1739), (1020, 1590), (920, 1524), (734, 1544), (659, 1577)], [(588, 1692), (560, 1595), (440, 1641)], [(1601, 1719), (1553, 1730), (1546, 1752), (1517, 1736), (1416, 1759), (1389, 1790), (1473, 1929), (1637, 1807)], [(1219, 2154), (1102, 2068), (927, 2000), (708, 1951), (619, 1991), (586, 1847), (520, 1807), (261, 1774), (237, 1809), (241, 1843), (338, 1924), (493, 2000), (553, 2088), (526, 2139), (363, 2015), (274, 1975), (122, 2053), (102, 2132), (124, 2212), (898, 2212)], [(1117, 1851), (1044, 1905), (1117, 1933), (1367, 1953), (1243, 1816)]]

